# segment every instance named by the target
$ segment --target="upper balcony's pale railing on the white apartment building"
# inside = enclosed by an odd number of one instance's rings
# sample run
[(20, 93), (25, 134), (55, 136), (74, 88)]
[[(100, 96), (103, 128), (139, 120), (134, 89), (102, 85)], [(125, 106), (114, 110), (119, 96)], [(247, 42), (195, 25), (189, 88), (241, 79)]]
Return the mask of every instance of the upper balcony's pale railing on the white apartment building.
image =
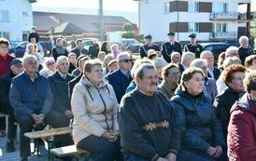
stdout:
[(210, 20), (238, 20), (238, 12), (210, 13)]

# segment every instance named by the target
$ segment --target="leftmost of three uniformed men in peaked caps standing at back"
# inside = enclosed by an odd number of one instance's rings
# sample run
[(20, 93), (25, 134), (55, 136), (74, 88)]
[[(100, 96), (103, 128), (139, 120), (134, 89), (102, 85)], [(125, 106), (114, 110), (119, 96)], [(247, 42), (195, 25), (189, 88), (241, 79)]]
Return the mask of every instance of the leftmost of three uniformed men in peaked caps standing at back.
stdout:
[(160, 51), (160, 48), (152, 44), (152, 36), (149, 34), (145, 36), (146, 45), (139, 47), (139, 54), (141, 59), (148, 57), (149, 49), (154, 49), (155, 51)]

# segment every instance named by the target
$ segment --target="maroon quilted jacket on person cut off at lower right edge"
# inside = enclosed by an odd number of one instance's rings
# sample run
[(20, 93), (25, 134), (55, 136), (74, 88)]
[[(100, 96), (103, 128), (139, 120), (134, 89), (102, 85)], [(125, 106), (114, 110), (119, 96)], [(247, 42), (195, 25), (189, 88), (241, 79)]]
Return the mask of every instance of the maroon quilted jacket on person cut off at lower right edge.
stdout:
[(256, 101), (246, 93), (231, 108), (228, 126), (230, 161), (256, 161)]

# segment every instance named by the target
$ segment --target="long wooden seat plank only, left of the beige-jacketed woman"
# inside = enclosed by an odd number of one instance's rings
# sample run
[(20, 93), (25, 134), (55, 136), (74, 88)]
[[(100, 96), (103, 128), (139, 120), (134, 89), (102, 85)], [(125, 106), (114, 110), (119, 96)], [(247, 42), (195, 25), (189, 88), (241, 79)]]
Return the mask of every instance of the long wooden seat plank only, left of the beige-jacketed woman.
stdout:
[(36, 138), (46, 138), (46, 137), (55, 136), (55, 135), (63, 135), (71, 132), (72, 132), (71, 127), (59, 127), (59, 128), (44, 129), (44, 130), (34, 131), (34, 132), (27, 132), (27, 133), (24, 133), (24, 136), (30, 139), (36, 139)]

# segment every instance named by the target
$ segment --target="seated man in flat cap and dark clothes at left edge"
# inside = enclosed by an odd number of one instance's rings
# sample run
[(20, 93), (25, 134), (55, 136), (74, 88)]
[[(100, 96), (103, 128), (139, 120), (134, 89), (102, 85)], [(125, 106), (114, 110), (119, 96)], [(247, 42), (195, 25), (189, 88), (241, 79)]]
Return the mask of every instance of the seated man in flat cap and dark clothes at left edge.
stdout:
[[(0, 111), (8, 114), (8, 127), (7, 127), (7, 153), (15, 151), (14, 139), (16, 136), (17, 126), (14, 125), (15, 117), (13, 114), (13, 108), (10, 105), (8, 99), (9, 87), (11, 79), (23, 72), (22, 61), (14, 59), (10, 63), (10, 73), (5, 74), (0, 78)], [(6, 121), (6, 120), (5, 120)]]

